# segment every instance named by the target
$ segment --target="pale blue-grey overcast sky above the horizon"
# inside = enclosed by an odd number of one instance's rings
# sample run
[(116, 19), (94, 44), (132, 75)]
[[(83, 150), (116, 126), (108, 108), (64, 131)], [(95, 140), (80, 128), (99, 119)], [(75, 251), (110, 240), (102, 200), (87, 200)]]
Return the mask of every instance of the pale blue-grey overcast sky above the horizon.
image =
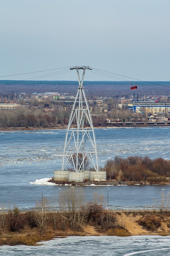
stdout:
[[(74, 65), (119, 80), (170, 81), (170, 0), (0, 0), (0, 79)], [(41, 80), (77, 80), (77, 74)], [(117, 79), (89, 71), (85, 80)]]

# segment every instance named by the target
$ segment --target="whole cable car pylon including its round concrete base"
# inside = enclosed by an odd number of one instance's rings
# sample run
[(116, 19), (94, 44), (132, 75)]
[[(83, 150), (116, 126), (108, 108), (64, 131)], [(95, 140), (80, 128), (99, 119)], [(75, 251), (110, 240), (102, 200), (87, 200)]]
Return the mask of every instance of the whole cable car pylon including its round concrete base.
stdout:
[[(74, 66), (71, 70), (77, 72), (79, 87), (66, 130), (62, 170), (54, 171), (54, 180), (66, 180), (68, 173), (68, 181), (104, 181), (106, 172), (99, 171), (93, 121), (83, 87), (85, 71), (91, 68)], [(82, 80), (79, 70), (83, 70)]]

